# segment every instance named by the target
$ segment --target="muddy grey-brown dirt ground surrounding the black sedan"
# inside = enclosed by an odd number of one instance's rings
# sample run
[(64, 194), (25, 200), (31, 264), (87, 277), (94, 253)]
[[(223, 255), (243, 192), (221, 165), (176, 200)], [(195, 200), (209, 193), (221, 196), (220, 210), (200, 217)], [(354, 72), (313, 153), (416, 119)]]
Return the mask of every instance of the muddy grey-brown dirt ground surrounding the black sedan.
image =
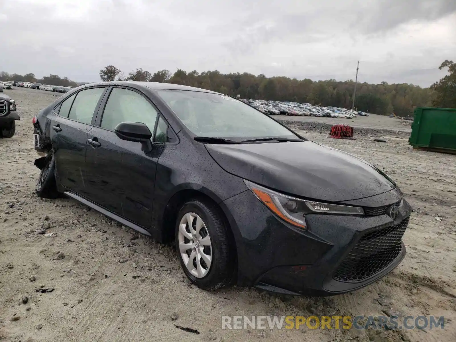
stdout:
[[(39, 199), (31, 118), (56, 97), (33, 89), (5, 93), (16, 100), (21, 120), (13, 138), (0, 139), (0, 341), (456, 341), (455, 155), (412, 150), (394, 133), (380, 143), (366, 134), (338, 140), (300, 131), (397, 181), (414, 208), (405, 259), (382, 280), (333, 297), (239, 287), (206, 292), (187, 281), (171, 246), (73, 199)], [(37, 234), (43, 225), (46, 234)], [(445, 329), (221, 329), (221, 316), (312, 314), (445, 316)]]

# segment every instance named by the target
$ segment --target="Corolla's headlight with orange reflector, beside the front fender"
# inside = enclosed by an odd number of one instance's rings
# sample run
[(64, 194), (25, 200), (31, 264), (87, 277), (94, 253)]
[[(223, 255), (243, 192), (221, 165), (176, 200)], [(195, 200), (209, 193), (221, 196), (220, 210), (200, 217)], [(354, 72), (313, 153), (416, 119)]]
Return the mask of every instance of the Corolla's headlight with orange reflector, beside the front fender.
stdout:
[(361, 207), (306, 201), (272, 191), (245, 179), (244, 183), (269, 210), (299, 228), (307, 228), (304, 216), (310, 213), (364, 215)]

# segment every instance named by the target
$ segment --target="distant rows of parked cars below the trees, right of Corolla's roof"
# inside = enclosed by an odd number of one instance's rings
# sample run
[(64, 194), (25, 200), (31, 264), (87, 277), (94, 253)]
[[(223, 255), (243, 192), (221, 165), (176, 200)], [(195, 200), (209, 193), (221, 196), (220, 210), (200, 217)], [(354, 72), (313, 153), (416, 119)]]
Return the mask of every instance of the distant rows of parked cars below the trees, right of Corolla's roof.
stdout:
[(361, 111), (337, 108), (312, 106), (309, 103), (282, 102), (282, 101), (265, 101), (265, 100), (243, 100), (245, 103), (253, 106), (259, 111), (269, 115), (301, 115), (301, 116), (326, 116), (329, 118), (352, 119), (357, 115), (368, 116), (368, 113)]

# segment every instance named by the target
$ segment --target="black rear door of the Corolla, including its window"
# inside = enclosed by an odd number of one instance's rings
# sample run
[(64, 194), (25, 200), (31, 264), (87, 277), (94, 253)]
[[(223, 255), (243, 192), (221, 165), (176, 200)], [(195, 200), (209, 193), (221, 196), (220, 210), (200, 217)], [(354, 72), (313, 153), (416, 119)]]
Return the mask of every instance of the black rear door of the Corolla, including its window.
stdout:
[(51, 120), (56, 177), (63, 187), (84, 197), (88, 186), (85, 175), (87, 134), (105, 90), (106, 87), (88, 88), (73, 94), (54, 109)]

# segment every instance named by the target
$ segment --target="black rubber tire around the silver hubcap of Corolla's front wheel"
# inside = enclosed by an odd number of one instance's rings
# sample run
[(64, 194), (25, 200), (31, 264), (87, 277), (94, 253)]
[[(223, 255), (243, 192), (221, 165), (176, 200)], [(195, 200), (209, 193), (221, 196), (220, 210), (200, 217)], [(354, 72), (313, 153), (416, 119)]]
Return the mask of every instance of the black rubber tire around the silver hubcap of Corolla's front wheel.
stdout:
[[(202, 219), (211, 240), (212, 262), (208, 268), (207, 274), (202, 278), (194, 276), (191, 271), (187, 269), (179, 249), (179, 225), (181, 219), (190, 212), (196, 213)], [(177, 214), (175, 232), (176, 249), (181, 261), (182, 269), (193, 284), (203, 290), (209, 291), (217, 290), (230, 284), (234, 275), (235, 253), (230, 242), (231, 239), (228, 233), (227, 224), (225, 223), (221, 209), (216, 204), (199, 198), (194, 198), (185, 203)]]

